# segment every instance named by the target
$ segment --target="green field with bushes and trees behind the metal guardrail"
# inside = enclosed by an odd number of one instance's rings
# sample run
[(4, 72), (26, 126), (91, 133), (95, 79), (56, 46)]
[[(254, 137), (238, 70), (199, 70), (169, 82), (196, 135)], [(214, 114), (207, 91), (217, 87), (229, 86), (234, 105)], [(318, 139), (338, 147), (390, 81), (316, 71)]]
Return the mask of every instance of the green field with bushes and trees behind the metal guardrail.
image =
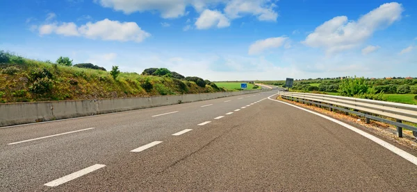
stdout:
[[(285, 87), (285, 80), (259, 81)], [(357, 77), (295, 80), (290, 91), (368, 98), (417, 105), (417, 78), (370, 79)]]

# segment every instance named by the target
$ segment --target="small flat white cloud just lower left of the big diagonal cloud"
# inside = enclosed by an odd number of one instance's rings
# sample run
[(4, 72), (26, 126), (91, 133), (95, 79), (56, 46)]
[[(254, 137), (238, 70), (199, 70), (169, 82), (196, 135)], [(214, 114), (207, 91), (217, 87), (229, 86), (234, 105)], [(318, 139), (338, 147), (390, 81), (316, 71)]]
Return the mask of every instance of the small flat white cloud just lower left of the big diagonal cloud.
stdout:
[[(279, 46), (284, 45), (286, 40), (288, 40), (288, 37), (284, 37), (284, 36), (283, 37), (271, 37), (265, 40), (258, 40), (249, 47), (249, 54), (255, 55), (255, 54), (261, 53), (262, 51), (265, 51), (266, 49), (277, 48)], [(290, 47), (291, 45), (286, 45), (287, 49)]]

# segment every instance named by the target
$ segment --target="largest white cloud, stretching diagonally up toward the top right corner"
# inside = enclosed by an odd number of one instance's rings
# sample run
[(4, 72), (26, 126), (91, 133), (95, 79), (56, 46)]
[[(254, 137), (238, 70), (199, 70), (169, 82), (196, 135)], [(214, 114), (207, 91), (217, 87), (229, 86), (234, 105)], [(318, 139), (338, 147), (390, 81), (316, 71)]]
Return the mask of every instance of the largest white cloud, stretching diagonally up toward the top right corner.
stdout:
[(367, 40), (375, 30), (393, 24), (404, 11), (400, 3), (385, 3), (357, 21), (349, 21), (346, 16), (338, 16), (318, 26), (304, 40), (304, 44), (324, 48), (327, 53), (352, 49)]

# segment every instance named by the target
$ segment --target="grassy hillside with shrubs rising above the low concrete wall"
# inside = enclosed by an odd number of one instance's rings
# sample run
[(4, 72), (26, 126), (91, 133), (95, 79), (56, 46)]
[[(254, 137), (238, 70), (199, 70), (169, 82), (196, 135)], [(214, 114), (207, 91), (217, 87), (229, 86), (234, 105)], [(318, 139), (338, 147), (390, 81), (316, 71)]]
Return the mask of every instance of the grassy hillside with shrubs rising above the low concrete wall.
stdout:
[(0, 51), (0, 103), (123, 98), (223, 91), (207, 81), (67, 67)]

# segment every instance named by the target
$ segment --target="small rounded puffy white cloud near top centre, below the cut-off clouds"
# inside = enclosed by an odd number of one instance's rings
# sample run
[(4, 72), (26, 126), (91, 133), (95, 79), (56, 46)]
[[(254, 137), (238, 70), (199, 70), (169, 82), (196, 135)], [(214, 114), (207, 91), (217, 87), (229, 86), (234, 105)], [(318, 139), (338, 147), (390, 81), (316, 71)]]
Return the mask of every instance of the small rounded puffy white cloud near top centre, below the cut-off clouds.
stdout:
[(204, 10), (195, 21), (197, 29), (207, 29), (216, 26), (217, 28), (224, 28), (230, 26), (229, 19), (225, 17), (218, 10)]

